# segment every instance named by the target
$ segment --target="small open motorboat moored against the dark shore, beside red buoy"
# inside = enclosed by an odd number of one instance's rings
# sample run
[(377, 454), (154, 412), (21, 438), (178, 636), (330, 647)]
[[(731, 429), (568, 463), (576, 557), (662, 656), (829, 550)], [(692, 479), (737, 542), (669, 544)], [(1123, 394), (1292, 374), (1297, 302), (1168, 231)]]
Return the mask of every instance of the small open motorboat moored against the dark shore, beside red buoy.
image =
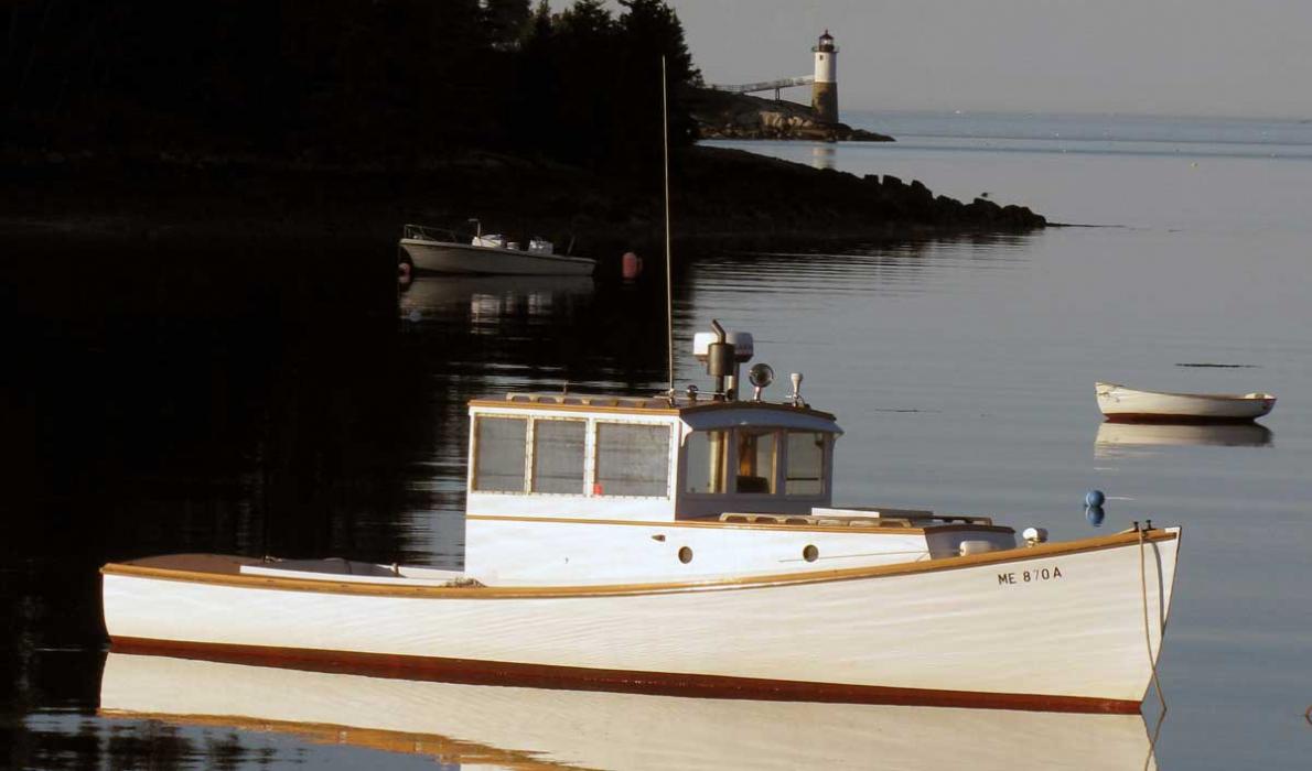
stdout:
[[(471, 220), (478, 223), (478, 220)], [(470, 240), (451, 231), (407, 224), (398, 245), (401, 274), (407, 266), (420, 273), (493, 275), (590, 275), (597, 261), (556, 254), (546, 239), (530, 239), (527, 248), (497, 233), (484, 233), (482, 224)]]

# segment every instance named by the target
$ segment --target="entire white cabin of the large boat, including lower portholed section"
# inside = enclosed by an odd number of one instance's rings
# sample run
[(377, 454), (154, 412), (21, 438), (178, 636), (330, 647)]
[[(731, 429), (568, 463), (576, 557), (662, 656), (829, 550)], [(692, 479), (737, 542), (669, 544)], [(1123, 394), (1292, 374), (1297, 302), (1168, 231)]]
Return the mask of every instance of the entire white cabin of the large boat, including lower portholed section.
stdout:
[(834, 417), (786, 404), (509, 393), (470, 403), (466, 574), (615, 583), (1013, 548), (985, 517), (833, 509)]

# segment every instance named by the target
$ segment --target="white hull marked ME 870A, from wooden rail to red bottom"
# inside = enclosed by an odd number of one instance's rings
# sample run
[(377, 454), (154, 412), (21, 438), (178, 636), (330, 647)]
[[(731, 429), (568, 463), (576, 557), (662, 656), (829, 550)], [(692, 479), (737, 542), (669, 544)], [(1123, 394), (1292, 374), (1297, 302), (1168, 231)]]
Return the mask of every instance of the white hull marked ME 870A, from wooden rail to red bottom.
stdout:
[(562, 589), (106, 565), (104, 607), (110, 637), (133, 646), (706, 695), (1134, 712), (1177, 547), (1178, 530), (1164, 530), (815, 576)]

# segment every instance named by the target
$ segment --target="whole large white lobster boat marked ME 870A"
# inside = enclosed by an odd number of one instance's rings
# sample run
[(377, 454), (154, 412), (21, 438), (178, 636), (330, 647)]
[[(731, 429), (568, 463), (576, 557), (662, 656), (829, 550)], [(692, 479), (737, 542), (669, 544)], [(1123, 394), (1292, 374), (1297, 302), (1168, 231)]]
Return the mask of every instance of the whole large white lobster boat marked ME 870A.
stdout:
[(470, 403), (466, 568), (173, 555), (109, 564), (115, 646), (690, 695), (1135, 712), (1179, 528), (1044, 543), (985, 517), (836, 507), (832, 414), (736, 395)]

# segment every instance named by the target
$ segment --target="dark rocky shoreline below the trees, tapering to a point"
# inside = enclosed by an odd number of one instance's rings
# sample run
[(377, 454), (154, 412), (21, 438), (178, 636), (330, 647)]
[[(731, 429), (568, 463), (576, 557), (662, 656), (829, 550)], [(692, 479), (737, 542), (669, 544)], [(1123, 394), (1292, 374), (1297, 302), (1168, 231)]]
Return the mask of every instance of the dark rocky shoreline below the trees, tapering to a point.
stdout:
[[(659, 252), (660, 170), (601, 176), (491, 152), (356, 168), (256, 159), (9, 155), (0, 233), (146, 241), (345, 240), (394, 247), (405, 223), (541, 235), (604, 265)], [(672, 169), (680, 240), (855, 240), (1042, 228), (1029, 208), (935, 197), (920, 182), (855, 177), (743, 151), (693, 147)], [(611, 254), (614, 252), (614, 254)]]

